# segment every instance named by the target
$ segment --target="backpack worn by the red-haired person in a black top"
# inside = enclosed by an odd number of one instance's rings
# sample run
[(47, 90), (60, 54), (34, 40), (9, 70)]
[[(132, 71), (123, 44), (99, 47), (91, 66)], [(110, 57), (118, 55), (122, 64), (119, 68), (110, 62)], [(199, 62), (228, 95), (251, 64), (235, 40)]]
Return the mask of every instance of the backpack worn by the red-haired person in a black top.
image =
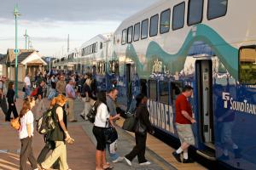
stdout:
[(37, 131), (40, 134), (47, 134), (55, 129), (55, 122), (51, 110), (45, 111), (43, 116), (38, 119)]

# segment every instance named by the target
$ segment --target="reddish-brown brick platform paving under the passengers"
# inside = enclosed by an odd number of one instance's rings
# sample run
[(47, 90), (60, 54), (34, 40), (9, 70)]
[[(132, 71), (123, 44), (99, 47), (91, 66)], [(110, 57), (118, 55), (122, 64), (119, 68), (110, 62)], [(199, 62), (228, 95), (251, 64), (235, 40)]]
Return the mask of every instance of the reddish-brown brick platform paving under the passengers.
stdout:
[[(22, 96), (22, 93), (19, 93)], [(45, 104), (48, 106), (49, 101), (45, 100)], [(18, 99), (16, 106), (18, 111), (22, 105), (22, 100)], [(91, 132), (92, 124), (90, 122), (84, 122), (79, 117), (79, 112), (83, 109), (83, 104), (79, 99), (75, 102), (75, 116), (79, 122), (68, 123), (68, 131), (70, 135), (75, 139), (74, 144), (67, 144), (67, 162), (69, 167), (73, 170), (94, 170), (95, 169), (95, 151), (96, 141)], [(130, 134), (126, 133), (122, 129), (118, 128), (119, 143), (118, 152), (120, 156), (124, 156), (131, 151), (134, 146), (134, 138)], [(33, 149), (35, 156), (38, 156), (40, 150), (44, 146), (44, 140), (40, 134), (34, 132)], [(20, 152), (20, 140), (18, 139), (18, 133), (10, 127), (9, 122), (4, 122), (3, 112), (0, 111), (0, 170), (18, 170), (19, 169), (19, 152)], [(166, 161), (155, 155), (154, 152), (147, 150), (146, 157), (148, 161), (152, 161), (150, 166), (139, 166), (137, 164), (137, 158), (132, 162), (132, 167), (129, 167), (125, 161), (116, 164), (112, 163), (112, 166), (116, 170), (160, 170), (160, 169), (174, 169)], [(109, 157), (107, 155), (107, 159)], [(29, 169), (30, 170), (30, 169)]]

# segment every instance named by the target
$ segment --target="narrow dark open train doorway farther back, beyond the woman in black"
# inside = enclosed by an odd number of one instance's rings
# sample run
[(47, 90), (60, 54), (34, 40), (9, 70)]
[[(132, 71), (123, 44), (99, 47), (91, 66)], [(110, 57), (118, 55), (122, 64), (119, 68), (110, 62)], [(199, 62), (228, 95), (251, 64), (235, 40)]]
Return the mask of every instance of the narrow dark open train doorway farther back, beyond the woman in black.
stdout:
[(127, 108), (131, 105), (132, 100), (132, 74), (133, 74), (133, 65), (125, 65), (125, 75), (126, 75), (126, 93), (127, 93)]

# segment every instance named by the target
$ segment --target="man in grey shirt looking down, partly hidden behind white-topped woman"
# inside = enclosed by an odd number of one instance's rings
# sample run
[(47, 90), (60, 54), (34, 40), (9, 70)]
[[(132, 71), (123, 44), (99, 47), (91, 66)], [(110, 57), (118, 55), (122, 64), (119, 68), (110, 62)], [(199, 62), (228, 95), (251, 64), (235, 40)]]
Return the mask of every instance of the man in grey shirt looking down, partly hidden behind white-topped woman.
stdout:
[[(114, 103), (115, 100), (117, 99), (118, 93), (119, 92), (116, 88), (112, 88), (111, 90), (108, 91), (108, 95), (107, 95), (107, 105), (108, 105), (109, 114), (110, 114), (109, 121), (111, 122), (112, 125), (120, 117), (120, 115), (117, 114), (117, 112), (116, 112), (116, 105)], [(110, 153), (109, 144), (107, 144), (107, 148), (108, 148), (109, 156), (113, 163), (124, 160), (124, 157), (119, 156), (119, 154), (117, 152), (115, 152), (113, 154)]]

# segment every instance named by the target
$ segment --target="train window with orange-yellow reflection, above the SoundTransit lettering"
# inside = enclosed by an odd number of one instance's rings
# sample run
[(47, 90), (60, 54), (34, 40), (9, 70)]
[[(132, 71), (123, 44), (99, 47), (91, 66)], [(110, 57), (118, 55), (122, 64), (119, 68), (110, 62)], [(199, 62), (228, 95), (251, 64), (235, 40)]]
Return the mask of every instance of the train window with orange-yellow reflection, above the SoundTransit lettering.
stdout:
[(256, 46), (240, 48), (239, 81), (256, 84)]

